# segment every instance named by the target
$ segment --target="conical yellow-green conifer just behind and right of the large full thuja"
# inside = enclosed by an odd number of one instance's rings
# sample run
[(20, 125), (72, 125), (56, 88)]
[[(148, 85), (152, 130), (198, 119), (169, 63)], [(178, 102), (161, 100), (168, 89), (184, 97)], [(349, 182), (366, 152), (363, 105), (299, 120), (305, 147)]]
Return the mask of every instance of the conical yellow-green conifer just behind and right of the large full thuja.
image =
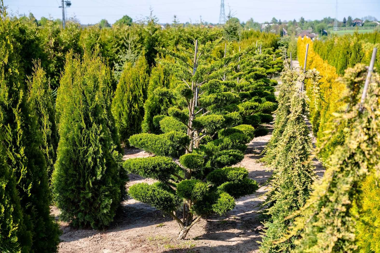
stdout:
[(120, 140), (127, 143), (128, 138), (141, 132), (144, 117), (144, 101), (147, 97), (149, 66), (144, 56), (136, 65), (127, 63), (120, 77), (112, 100), (112, 114), (120, 133)]

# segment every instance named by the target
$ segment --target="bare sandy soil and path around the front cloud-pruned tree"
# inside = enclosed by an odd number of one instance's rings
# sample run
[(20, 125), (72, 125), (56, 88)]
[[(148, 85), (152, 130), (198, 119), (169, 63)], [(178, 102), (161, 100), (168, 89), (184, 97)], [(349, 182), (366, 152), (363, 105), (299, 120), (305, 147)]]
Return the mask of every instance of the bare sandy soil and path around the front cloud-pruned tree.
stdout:
[[(294, 64), (293, 64), (294, 66)], [(280, 83), (280, 81), (279, 81)], [(261, 228), (261, 210), (265, 185), (271, 176), (270, 168), (258, 162), (260, 153), (271, 138), (272, 124), (266, 125), (269, 134), (254, 138), (248, 145), (244, 159), (236, 166), (249, 171), (249, 177), (256, 180), (260, 189), (255, 194), (236, 201), (236, 207), (224, 216), (201, 219), (187, 235), (186, 240), (177, 240), (178, 225), (170, 216), (149, 205), (129, 198), (122, 205), (122, 211), (115, 221), (104, 231), (95, 229), (73, 229), (60, 221), (63, 231), (59, 253), (191, 253), (191, 252), (258, 252)], [(137, 149), (124, 150), (124, 159), (150, 156)], [(318, 175), (323, 169), (317, 160)], [(140, 182), (153, 183), (154, 180), (130, 174), (127, 187)], [(52, 207), (52, 214), (59, 218), (59, 210)]]

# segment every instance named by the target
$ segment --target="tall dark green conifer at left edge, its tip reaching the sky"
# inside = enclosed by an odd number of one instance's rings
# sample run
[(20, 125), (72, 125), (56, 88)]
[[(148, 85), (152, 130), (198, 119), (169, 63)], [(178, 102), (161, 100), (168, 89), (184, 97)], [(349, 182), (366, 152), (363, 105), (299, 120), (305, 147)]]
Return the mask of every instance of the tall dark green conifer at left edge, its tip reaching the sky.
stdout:
[[(60, 231), (50, 215), (46, 163), (40, 150), (41, 133), (18, 72), (19, 56), (13, 50), (16, 41), (3, 5), (0, 7), (0, 45), (0, 142), (5, 148), (10, 174), (17, 182), (24, 221), (24, 227), (19, 226), (17, 242), (24, 252), (55, 252)], [(0, 225), (6, 229), (11, 224)]]

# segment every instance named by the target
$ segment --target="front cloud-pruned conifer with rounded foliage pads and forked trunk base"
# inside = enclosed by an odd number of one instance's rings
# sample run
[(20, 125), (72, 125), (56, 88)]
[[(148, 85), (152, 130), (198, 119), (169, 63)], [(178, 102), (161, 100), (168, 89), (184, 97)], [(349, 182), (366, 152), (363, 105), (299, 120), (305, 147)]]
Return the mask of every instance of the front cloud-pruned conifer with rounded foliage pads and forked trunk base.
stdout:
[(201, 217), (228, 212), (235, 198), (258, 188), (256, 181), (247, 178), (245, 168), (229, 167), (243, 159), (254, 128), (239, 125), (239, 97), (230, 91), (235, 83), (220, 81), (231, 71), (229, 64), (246, 51), (213, 59), (211, 52), (222, 40), (210, 39), (216, 36), (218, 32), (207, 30), (198, 40), (192, 38), (193, 43), (184, 41), (176, 52), (159, 50), (173, 57), (174, 62), (158, 62), (178, 81), (176, 88), (158, 88), (155, 94), (173, 97), (177, 105), (168, 109), (169, 116), (154, 119), (160, 119), (163, 134), (137, 134), (129, 139), (131, 145), (156, 156), (128, 159), (123, 165), (128, 172), (157, 180), (152, 185), (133, 185), (129, 192), (171, 215), (180, 227), (178, 239), (184, 239)]

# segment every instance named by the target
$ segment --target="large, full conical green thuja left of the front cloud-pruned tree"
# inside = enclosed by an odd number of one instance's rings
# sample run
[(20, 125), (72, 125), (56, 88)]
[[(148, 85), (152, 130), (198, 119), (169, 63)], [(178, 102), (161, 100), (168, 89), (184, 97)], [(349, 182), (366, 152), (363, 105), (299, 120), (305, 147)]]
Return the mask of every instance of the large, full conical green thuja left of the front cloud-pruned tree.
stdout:
[(66, 56), (57, 95), (59, 145), (53, 193), (60, 218), (102, 228), (125, 197), (127, 176), (111, 113), (111, 71), (98, 52)]

